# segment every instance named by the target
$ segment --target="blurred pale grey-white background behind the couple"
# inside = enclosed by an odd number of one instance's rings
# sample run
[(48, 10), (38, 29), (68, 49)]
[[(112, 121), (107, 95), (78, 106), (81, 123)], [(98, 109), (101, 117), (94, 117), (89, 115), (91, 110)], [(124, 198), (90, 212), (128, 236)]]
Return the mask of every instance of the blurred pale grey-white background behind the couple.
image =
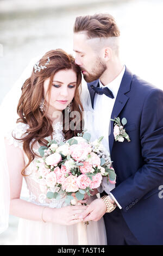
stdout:
[[(30, 60), (62, 48), (73, 53), (76, 16), (110, 13), (121, 30), (121, 59), (163, 89), (162, 0), (0, 0), (0, 103)], [(10, 216), (0, 245), (15, 245), (18, 218)]]

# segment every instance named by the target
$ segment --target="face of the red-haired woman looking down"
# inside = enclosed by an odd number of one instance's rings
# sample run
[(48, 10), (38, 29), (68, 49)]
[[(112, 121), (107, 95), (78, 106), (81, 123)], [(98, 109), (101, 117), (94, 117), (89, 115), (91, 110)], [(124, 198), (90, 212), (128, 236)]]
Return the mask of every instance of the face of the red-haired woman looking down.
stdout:
[(48, 99), (49, 79), (47, 78), (43, 85), (44, 96), (49, 103), (49, 109), (62, 111), (73, 100), (77, 86), (77, 74), (72, 69), (58, 71), (53, 77), (51, 96)]

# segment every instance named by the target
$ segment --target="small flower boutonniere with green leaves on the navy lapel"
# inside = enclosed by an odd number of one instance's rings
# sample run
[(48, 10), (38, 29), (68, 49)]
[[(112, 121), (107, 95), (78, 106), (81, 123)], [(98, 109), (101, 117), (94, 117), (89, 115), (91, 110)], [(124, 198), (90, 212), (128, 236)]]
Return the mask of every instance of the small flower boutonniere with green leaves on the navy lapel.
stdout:
[(126, 130), (124, 129), (124, 125), (127, 124), (127, 119), (126, 118), (122, 118), (122, 124), (121, 124), (121, 120), (119, 117), (115, 118), (115, 119), (110, 119), (111, 121), (114, 121), (114, 138), (115, 141), (118, 142), (123, 142), (124, 139), (127, 139), (128, 142), (130, 142), (130, 138), (128, 136), (128, 134), (126, 133)]

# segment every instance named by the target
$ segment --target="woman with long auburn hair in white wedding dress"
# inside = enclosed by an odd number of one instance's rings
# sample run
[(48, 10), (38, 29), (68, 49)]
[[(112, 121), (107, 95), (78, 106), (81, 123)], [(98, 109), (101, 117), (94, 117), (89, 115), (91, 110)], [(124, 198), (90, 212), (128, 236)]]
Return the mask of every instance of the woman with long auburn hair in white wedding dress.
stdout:
[[(18, 119), (13, 127), (10, 127), (10, 131), (7, 131), (8, 127), (4, 126), (4, 133), (1, 135), (5, 137), (4, 151), (6, 153), (6, 155), (3, 154), (3, 164), (1, 163), (1, 167), (3, 166), (1, 194), (7, 191), (8, 187), (10, 188), (9, 212), (20, 218), (19, 244), (106, 245), (103, 218), (98, 222), (90, 222), (83, 229), (85, 225), (79, 219), (79, 215), (87, 206), (66, 205), (64, 196), (59, 200), (48, 199), (46, 197), (47, 187), (41, 184), (41, 179), (35, 175), (34, 171), (35, 160), (39, 157), (38, 149), (41, 145), (47, 145), (48, 139), (55, 139), (59, 143), (82, 131), (83, 105), (80, 100), (82, 81), (80, 69), (74, 63), (72, 56), (58, 49), (47, 52), (34, 65), (30, 74), (30, 77), (22, 84), (22, 92), (17, 105)], [(67, 113), (72, 111), (77, 111), (79, 114), (78, 125), (74, 129), (72, 127), (69, 129), (68, 125), (72, 118)], [(5, 109), (3, 116), (5, 116)], [(68, 116), (68, 121), (66, 116)], [(5, 117), (8, 124), (11, 118), (11, 116)], [(23, 179), (29, 190), (28, 200), (21, 198)], [(96, 196), (91, 196), (87, 204), (95, 198)], [(3, 221), (7, 222), (7, 194), (4, 199), (3, 193), (1, 199), (3, 209), (1, 209), (0, 222), (3, 225)], [(2, 230), (7, 228), (5, 224), (4, 226)], [(84, 232), (86, 236), (83, 235)]]

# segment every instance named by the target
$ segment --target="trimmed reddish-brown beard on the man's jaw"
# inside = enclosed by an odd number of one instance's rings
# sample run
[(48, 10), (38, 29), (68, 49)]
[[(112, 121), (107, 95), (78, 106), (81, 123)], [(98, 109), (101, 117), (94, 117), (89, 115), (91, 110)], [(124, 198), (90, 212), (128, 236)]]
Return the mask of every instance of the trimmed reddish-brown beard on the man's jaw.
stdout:
[(84, 80), (87, 83), (90, 83), (92, 81), (97, 80), (99, 77), (101, 77), (106, 70), (106, 64), (101, 61), (100, 58), (97, 58), (95, 63), (95, 68), (92, 68), (93, 72), (89, 73), (85, 69), (82, 69), (82, 71), (86, 71), (86, 74), (83, 74)]

